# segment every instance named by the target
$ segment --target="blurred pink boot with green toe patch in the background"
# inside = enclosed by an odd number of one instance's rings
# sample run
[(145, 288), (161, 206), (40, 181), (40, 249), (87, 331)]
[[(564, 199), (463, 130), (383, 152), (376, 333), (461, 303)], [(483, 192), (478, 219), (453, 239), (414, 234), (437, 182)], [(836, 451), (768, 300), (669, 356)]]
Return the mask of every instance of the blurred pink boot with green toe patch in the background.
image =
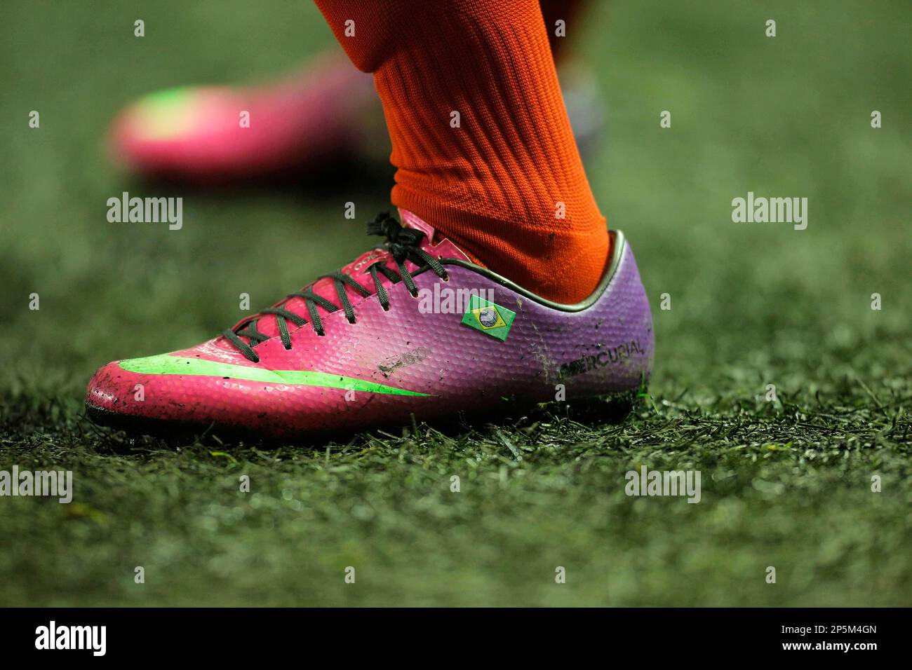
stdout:
[[(373, 77), (326, 55), (253, 88), (179, 87), (140, 98), (112, 123), (114, 159), (147, 177), (200, 184), (247, 180), (349, 153), (385, 137), (368, 122)], [(370, 115), (370, 116), (368, 116)], [(379, 154), (389, 153), (379, 142)]]

